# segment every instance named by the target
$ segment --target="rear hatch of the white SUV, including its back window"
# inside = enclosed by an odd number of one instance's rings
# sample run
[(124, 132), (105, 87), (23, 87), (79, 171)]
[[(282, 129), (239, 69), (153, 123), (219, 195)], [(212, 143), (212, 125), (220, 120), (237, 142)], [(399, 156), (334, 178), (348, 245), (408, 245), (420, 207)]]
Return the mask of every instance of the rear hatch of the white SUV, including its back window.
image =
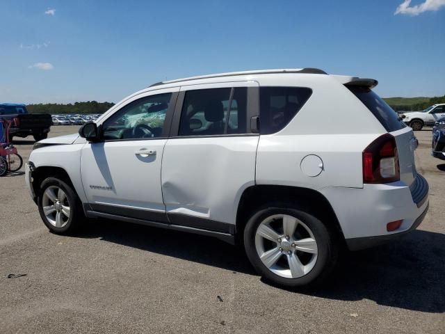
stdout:
[(414, 150), (417, 147), (416, 137), (412, 129), (402, 122), (396, 111), (391, 109), (370, 87), (363, 86), (364, 84), (366, 84), (366, 80), (352, 81), (345, 86), (362, 101), (387, 132), (396, 139), (401, 181), (407, 186), (411, 186), (417, 174), (414, 161)]

